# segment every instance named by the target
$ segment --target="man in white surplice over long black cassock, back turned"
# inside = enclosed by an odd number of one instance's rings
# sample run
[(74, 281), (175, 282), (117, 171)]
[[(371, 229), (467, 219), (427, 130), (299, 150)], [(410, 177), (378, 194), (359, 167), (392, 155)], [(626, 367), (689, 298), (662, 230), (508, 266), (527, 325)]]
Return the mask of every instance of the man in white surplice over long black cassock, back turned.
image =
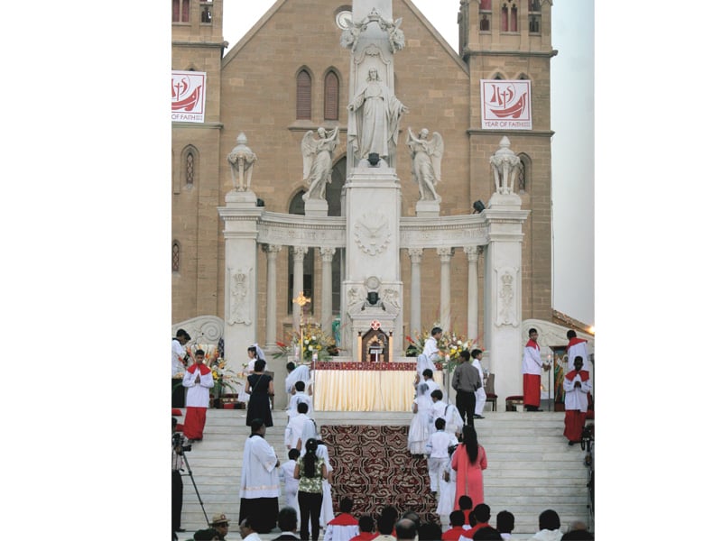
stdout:
[(259, 534), (267, 534), (276, 526), (278, 517), (278, 460), (273, 447), (264, 439), (262, 419), (251, 421), (251, 436), (245, 440), (241, 466), (241, 507), (238, 524), (253, 516), (258, 520)]

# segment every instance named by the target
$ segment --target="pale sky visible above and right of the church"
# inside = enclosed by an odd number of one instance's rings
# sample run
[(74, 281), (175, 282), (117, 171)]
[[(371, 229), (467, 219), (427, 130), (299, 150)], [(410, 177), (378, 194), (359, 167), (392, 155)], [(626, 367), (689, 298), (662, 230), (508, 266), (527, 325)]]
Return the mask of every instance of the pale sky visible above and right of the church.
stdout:
[[(223, 38), (229, 49), (273, 4), (225, 0)], [(414, 4), (458, 50), (458, 2)], [(593, 0), (555, 0), (551, 23), (551, 45), (559, 50), (551, 60), (552, 306), (594, 326)]]

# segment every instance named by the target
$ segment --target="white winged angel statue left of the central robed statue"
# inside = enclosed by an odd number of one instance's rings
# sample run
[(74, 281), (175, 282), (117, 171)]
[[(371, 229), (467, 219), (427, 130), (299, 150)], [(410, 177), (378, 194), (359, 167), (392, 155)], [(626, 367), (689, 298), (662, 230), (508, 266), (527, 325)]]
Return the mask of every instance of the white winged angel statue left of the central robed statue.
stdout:
[(301, 154), (303, 155), (303, 179), (309, 183), (309, 191), (303, 194), (303, 200), (325, 199), (326, 184), (331, 183), (331, 170), (333, 170), (333, 151), (338, 145), (338, 126), (333, 132), (319, 128), (319, 139), (313, 138), (309, 130), (301, 140)]

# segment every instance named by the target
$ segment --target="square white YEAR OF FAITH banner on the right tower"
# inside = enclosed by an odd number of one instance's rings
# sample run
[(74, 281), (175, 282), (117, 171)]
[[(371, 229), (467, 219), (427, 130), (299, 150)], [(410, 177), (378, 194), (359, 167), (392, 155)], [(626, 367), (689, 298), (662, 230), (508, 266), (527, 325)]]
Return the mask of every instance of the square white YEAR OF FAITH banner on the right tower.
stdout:
[(532, 81), (481, 79), (481, 129), (531, 130)]

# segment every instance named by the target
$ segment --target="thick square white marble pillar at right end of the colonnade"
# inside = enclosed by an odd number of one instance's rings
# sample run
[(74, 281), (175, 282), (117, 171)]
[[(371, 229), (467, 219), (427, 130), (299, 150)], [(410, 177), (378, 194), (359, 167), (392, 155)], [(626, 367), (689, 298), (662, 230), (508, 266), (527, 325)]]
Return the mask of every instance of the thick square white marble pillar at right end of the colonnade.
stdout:
[(498, 193), (482, 213), (489, 232), (484, 261), (484, 345), (501, 399), (523, 393), (522, 227), (528, 215), (529, 211), (521, 210), (519, 196)]

